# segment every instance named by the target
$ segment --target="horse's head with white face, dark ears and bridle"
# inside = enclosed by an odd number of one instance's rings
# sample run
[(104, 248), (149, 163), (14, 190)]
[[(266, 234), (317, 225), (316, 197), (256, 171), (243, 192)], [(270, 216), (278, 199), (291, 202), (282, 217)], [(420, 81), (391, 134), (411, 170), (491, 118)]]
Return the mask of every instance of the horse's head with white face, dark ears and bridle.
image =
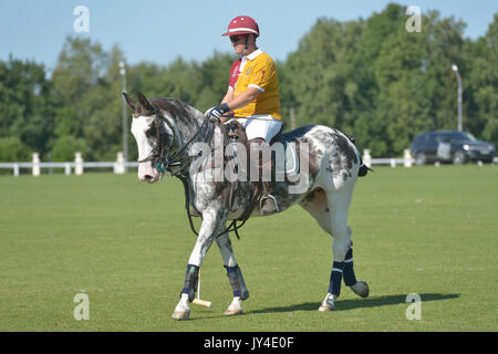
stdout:
[(167, 153), (175, 138), (174, 131), (163, 119), (160, 107), (147, 100), (142, 93), (138, 102), (126, 93), (123, 95), (133, 110), (132, 134), (138, 146), (138, 178), (149, 184), (164, 177), (157, 168), (157, 162)]

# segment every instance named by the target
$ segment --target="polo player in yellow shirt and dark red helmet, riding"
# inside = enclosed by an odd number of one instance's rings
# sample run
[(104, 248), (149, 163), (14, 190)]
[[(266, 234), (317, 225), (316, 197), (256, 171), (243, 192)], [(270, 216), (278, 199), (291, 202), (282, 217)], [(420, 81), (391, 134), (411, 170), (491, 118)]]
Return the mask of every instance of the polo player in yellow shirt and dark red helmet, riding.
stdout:
[[(279, 79), (271, 56), (256, 45), (259, 34), (258, 23), (248, 15), (236, 17), (228, 24), (228, 30), (222, 35), (229, 35), (231, 45), (240, 58), (231, 65), (228, 90), (221, 104), (209, 108), (206, 116), (222, 123), (237, 119), (246, 128), (251, 150), (271, 156), (267, 154), (269, 144), (282, 128)], [(253, 168), (259, 169), (258, 176), (262, 175), (262, 169), (270, 168), (271, 171), (271, 158), (251, 163)], [(263, 191), (260, 215), (279, 212), (277, 199), (271, 195), (271, 181), (260, 183)]]

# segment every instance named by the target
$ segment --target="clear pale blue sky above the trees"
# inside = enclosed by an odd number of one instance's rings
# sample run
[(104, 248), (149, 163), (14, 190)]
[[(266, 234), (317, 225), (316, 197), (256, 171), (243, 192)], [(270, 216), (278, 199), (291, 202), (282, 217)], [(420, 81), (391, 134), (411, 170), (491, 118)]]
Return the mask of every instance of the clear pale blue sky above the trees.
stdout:
[[(18, 59), (43, 62), (49, 70), (69, 34), (91, 38), (105, 50), (118, 44), (126, 61), (168, 64), (179, 55), (203, 61), (214, 51), (228, 52), (229, 41), (220, 34), (236, 15), (253, 17), (261, 30), (258, 44), (277, 60), (295, 51), (299, 40), (320, 17), (339, 21), (366, 19), (392, 1), (385, 0), (15, 0), (0, 1), (0, 59), (11, 53)], [(407, 0), (422, 12), (438, 10), (440, 17), (454, 15), (467, 23), (464, 35), (484, 35), (494, 13), (496, 0)], [(90, 31), (76, 33), (74, 8), (90, 11)], [(407, 17), (408, 18), (408, 17)], [(424, 23), (422, 23), (424, 27)]]

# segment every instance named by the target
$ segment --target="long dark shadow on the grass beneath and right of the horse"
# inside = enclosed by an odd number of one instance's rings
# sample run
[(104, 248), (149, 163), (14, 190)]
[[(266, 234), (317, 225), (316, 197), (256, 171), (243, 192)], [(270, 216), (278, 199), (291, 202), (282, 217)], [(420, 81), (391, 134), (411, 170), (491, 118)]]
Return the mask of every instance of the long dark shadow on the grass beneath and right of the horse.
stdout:
[[(439, 293), (425, 293), (419, 294), (421, 301), (424, 303), (426, 301), (440, 301), (448, 299), (457, 299), (460, 294), (439, 294)], [(388, 306), (396, 304), (406, 303), (406, 294), (398, 295), (386, 295), (386, 296), (374, 296), (367, 299), (347, 299), (342, 300), (339, 299), (335, 311), (346, 311), (353, 309), (363, 309), (363, 308), (380, 308), (380, 306)], [(304, 302), (290, 306), (279, 306), (279, 308), (268, 308), (261, 310), (255, 310), (247, 312), (248, 314), (253, 313), (271, 313), (271, 312), (292, 312), (292, 311), (317, 311), (320, 306), (320, 302)]]

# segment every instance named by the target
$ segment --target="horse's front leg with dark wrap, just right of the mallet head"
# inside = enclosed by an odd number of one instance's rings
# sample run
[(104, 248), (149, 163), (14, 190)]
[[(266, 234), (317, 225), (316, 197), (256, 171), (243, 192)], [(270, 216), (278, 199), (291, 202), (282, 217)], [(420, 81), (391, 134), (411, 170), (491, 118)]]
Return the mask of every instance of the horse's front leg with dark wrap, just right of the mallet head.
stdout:
[(225, 314), (241, 314), (241, 304), (243, 300), (247, 300), (249, 298), (249, 291), (247, 290), (246, 283), (243, 281), (240, 267), (237, 264), (237, 261), (235, 259), (230, 237), (228, 236), (228, 233), (221, 235), (216, 239), (216, 243), (218, 244), (221, 257), (224, 258), (224, 267), (227, 270), (228, 280), (234, 292), (234, 300), (228, 306), (227, 311), (225, 311)]

